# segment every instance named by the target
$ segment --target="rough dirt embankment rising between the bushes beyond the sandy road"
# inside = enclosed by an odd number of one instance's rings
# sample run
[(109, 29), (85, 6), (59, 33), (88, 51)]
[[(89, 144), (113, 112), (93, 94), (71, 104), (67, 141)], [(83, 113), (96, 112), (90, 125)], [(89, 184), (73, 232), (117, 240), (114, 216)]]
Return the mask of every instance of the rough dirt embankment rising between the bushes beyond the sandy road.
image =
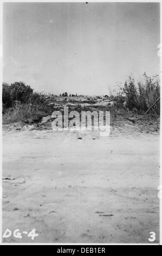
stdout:
[[(97, 103), (95, 103), (97, 102)], [(64, 116), (64, 107), (71, 111), (110, 111), (111, 113), (111, 134), (118, 136), (120, 133), (128, 135), (135, 132), (157, 134), (160, 130), (160, 118), (150, 118), (150, 115), (138, 115), (129, 112), (127, 109), (116, 108), (115, 102), (102, 97), (55, 97), (48, 100), (47, 105), (51, 105), (53, 111), (42, 119), (26, 118), (21, 122), (4, 125), (6, 131), (26, 131), (26, 130), (52, 130), (51, 123), (54, 120), (51, 114), (60, 111)], [(70, 121), (70, 120), (69, 120)]]

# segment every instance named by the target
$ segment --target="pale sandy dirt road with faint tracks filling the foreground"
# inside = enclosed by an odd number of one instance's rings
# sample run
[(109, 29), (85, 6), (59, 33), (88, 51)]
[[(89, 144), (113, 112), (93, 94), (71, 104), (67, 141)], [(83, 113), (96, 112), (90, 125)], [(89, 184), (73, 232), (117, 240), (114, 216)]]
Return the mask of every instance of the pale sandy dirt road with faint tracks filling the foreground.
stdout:
[(159, 242), (159, 136), (3, 136), (3, 242)]

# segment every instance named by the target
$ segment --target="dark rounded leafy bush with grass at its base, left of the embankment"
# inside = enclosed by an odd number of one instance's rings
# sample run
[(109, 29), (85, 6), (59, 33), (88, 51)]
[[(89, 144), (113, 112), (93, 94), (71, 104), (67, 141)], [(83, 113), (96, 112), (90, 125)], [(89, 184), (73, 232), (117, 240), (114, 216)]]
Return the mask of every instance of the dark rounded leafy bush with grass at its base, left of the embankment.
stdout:
[(3, 124), (14, 123), (25, 119), (38, 120), (51, 114), (51, 107), (41, 94), (34, 93), (24, 82), (15, 82), (9, 86), (3, 83)]

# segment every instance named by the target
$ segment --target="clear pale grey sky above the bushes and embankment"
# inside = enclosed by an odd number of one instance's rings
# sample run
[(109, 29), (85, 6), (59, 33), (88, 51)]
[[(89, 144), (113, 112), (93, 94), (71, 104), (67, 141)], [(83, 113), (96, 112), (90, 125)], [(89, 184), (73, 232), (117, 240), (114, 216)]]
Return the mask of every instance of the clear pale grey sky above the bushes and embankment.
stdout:
[(159, 3), (3, 3), (3, 82), (106, 95), (160, 73)]

